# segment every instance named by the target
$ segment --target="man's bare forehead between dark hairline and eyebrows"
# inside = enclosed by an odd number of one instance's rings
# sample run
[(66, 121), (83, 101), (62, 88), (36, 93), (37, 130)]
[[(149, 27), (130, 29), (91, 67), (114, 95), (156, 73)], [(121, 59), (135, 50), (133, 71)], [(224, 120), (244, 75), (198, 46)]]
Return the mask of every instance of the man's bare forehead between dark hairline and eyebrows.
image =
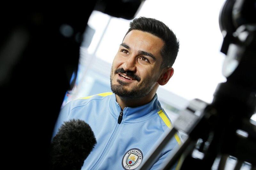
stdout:
[(132, 30), (124, 37), (123, 43), (126, 43), (132, 51), (146, 51), (162, 59), (161, 49), (164, 41), (151, 33)]

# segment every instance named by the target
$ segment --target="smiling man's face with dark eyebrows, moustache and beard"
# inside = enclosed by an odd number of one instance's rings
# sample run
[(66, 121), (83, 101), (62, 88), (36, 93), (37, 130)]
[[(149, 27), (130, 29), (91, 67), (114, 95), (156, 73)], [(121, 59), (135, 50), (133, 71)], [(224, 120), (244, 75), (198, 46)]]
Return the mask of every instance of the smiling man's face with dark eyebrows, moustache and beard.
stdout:
[(110, 73), (111, 90), (122, 98), (147, 96), (157, 86), (164, 41), (153, 34), (130, 31), (120, 45)]

